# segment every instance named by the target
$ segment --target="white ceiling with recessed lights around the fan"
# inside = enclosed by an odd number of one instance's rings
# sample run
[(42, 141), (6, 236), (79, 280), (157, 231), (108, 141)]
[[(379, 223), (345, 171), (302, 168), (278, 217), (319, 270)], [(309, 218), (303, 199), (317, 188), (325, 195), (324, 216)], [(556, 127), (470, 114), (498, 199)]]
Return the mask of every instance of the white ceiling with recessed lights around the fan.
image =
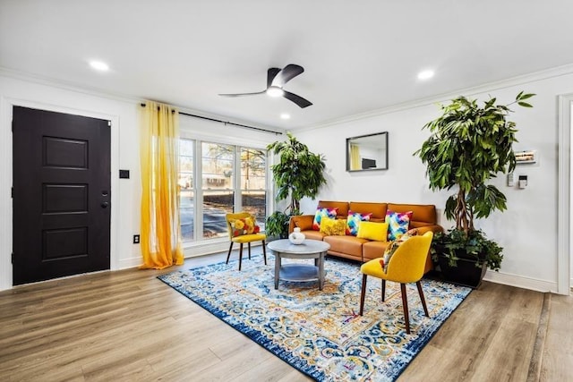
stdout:
[[(572, 16), (571, 0), (0, 0), (0, 68), (295, 130), (572, 64)], [(314, 105), (218, 96), (286, 64)]]

